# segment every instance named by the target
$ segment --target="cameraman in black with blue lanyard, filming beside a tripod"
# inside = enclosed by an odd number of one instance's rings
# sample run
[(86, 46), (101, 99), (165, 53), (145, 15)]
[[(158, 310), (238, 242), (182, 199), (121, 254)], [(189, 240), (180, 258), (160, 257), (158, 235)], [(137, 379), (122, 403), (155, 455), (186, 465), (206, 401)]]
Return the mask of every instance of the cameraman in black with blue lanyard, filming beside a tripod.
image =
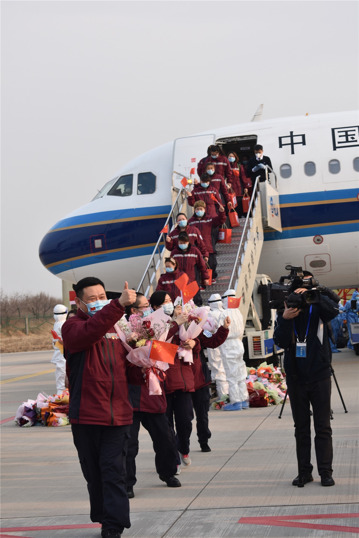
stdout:
[[(313, 277), (304, 271), (304, 278)], [(304, 293), (305, 288), (297, 288), (294, 293)], [(293, 380), (291, 371), (290, 346), (292, 331), (296, 332), (296, 342), (306, 342), (305, 357), (295, 358), (298, 384), (298, 422), (301, 471), (303, 483), (313, 482), (313, 465), (311, 464), (311, 416), (313, 409), (314, 447), (316, 464), (322, 486), (334, 486), (332, 478), (333, 444), (330, 428), (330, 345), (327, 334), (327, 322), (339, 314), (339, 307), (328, 297), (320, 294), (320, 302), (304, 309), (288, 308), (285, 303), (283, 313), (278, 312), (274, 323), (273, 341), (285, 349), (284, 369), (294, 419)], [(298, 477), (293, 486), (298, 485)]]

